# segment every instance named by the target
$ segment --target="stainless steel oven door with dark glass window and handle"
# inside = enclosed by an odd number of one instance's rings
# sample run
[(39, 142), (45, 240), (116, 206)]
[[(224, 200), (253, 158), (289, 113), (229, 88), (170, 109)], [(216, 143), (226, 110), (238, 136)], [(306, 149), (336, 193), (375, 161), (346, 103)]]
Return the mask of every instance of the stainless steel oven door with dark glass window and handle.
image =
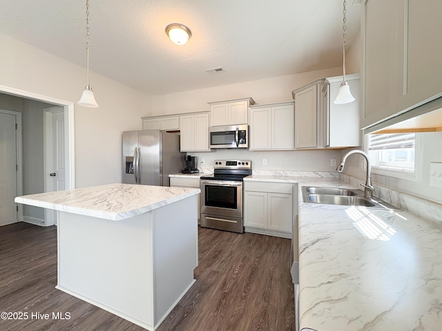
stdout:
[(201, 180), (201, 212), (242, 219), (242, 181)]

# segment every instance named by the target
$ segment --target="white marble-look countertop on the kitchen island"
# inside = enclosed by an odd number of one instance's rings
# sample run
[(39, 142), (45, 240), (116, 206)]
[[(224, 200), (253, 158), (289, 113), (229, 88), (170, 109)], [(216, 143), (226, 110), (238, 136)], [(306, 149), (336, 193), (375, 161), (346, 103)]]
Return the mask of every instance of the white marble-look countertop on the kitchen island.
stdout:
[(119, 221), (200, 193), (195, 188), (108, 184), (16, 197), (16, 203)]

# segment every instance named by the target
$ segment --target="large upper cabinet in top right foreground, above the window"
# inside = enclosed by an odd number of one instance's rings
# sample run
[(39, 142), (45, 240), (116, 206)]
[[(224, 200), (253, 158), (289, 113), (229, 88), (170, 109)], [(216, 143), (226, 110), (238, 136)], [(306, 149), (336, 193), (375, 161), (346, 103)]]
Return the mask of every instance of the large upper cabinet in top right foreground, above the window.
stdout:
[(440, 0), (363, 4), (361, 128), (442, 96), (441, 12)]

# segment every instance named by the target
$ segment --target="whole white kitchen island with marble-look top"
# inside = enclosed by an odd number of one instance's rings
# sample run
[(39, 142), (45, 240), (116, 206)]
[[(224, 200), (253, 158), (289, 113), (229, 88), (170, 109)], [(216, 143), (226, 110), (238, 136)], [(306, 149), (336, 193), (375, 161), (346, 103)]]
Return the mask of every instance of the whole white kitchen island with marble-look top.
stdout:
[(15, 202), (58, 212), (57, 289), (155, 330), (195, 282), (198, 193), (116, 183)]

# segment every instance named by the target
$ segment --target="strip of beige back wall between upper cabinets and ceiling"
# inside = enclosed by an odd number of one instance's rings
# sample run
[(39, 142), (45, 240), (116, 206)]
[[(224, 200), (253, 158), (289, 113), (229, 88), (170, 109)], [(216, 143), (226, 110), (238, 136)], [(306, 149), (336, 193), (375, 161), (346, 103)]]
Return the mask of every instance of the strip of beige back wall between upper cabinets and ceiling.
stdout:
[[(222, 74), (222, 73), (221, 73)], [(272, 103), (293, 100), (291, 91), (315, 79), (334, 77), (342, 74), (342, 68), (330, 68), (301, 74), (256, 81), (244, 81), (212, 88), (187, 92), (163, 94), (152, 97), (152, 112), (145, 116), (180, 114), (184, 112), (209, 111), (209, 102), (252, 97), (256, 103)]]

